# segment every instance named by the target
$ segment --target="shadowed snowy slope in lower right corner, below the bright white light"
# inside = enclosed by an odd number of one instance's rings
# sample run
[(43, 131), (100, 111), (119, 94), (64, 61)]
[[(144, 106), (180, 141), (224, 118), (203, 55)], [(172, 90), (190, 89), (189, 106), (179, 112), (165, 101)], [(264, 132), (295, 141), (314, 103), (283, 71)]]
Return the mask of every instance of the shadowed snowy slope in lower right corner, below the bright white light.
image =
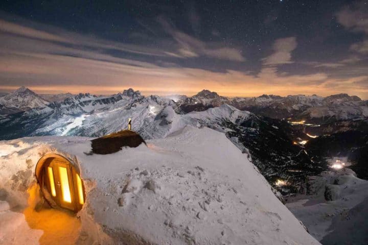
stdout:
[[(368, 241), (368, 181), (349, 168), (312, 177), (310, 195), (290, 198), (286, 206), (323, 244), (366, 244)], [(326, 190), (332, 201), (325, 200)]]

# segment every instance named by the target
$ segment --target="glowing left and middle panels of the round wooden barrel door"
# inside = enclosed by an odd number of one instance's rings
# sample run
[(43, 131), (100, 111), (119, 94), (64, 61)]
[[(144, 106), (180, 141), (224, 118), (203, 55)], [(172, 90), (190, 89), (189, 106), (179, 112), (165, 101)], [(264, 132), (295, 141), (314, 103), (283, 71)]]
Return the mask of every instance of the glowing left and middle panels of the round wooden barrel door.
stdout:
[(75, 210), (72, 168), (69, 163), (53, 159), (45, 169), (48, 174), (50, 194), (63, 208)]

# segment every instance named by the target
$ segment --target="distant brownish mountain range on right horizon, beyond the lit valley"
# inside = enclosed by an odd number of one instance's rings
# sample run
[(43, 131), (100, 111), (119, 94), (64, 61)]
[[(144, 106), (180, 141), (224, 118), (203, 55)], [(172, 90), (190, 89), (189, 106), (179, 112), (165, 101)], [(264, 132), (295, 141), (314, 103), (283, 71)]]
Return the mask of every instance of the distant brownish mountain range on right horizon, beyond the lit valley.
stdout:
[(261, 95), (259, 97), (228, 98), (216, 92), (203, 90), (178, 103), (178, 112), (206, 110), (222, 104), (263, 116), (283, 119), (303, 119), (309, 122), (326, 122), (368, 116), (368, 101), (346, 93), (327, 97), (317, 95)]

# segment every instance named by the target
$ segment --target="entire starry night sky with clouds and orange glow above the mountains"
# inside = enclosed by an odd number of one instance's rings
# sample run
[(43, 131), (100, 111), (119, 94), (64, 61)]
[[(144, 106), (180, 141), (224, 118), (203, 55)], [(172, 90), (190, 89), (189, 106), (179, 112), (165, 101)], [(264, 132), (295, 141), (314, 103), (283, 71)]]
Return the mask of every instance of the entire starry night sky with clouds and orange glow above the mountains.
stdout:
[(368, 1), (3, 0), (0, 90), (19, 86), (368, 99)]

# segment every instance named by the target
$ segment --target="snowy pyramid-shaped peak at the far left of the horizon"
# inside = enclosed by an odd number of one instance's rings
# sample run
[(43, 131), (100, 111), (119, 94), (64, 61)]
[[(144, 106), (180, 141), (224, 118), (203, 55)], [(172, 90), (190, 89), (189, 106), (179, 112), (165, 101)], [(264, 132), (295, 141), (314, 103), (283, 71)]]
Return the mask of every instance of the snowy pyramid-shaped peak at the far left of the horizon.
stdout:
[(4, 97), (0, 97), (0, 105), (4, 107), (4, 111), (6, 108), (6, 110), (9, 112), (26, 111), (33, 108), (43, 108), (48, 104), (49, 102), (43, 100), (41, 96), (26, 87), (20, 87)]

